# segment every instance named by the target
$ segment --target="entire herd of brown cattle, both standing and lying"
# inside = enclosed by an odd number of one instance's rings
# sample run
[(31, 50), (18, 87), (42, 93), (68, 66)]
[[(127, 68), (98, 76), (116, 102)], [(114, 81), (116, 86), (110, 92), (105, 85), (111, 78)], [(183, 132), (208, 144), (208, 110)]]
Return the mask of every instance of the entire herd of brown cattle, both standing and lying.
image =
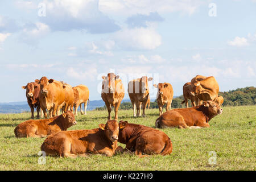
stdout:
[[(152, 78), (143, 76), (128, 83), (134, 117), (141, 116), (141, 109), (143, 117), (146, 116), (146, 105), (150, 104), (148, 81), (152, 81)], [(184, 109), (171, 110), (174, 90), (170, 83), (154, 84), (154, 87), (158, 89), (157, 102), (160, 113), (155, 121), (155, 127), (181, 129), (209, 127), (210, 119), (222, 113), (220, 106), (224, 100), (223, 97), (218, 96), (219, 87), (213, 76), (197, 75), (183, 86), (184, 101), (182, 103), (187, 105)], [(41, 146), (41, 150), (47, 155), (76, 157), (105, 154), (112, 156), (117, 152), (128, 151), (135, 152), (138, 156), (146, 156), (168, 155), (172, 152), (172, 142), (163, 131), (127, 121), (117, 122), (118, 108), (125, 96), (125, 89), (119, 76), (114, 73), (102, 76), (101, 97), (108, 109), (108, 121), (92, 130), (67, 131), (69, 127), (77, 124), (75, 115), (79, 106), (81, 114), (86, 114), (89, 89), (85, 85), (72, 88), (64, 82), (42, 77), (22, 88), (26, 89), (32, 119), (16, 126), (15, 136), (39, 138), (48, 136)], [(193, 107), (188, 107), (188, 100), (191, 100)], [(82, 111), (83, 103), (84, 112)], [(165, 113), (163, 113), (164, 105), (166, 105)], [(75, 114), (73, 114), (73, 107), (75, 107)], [(114, 120), (110, 114), (112, 107), (115, 111)], [(34, 120), (34, 108), (38, 112), (37, 120)], [(39, 119), (40, 109), (45, 119)], [(63, 114), (60, 114), (60, 109)], [(48, 119), (47, 116), (49, 116)], [(117, 145), (117, 142), (126, 144), (126, 147), (123, 149)]]

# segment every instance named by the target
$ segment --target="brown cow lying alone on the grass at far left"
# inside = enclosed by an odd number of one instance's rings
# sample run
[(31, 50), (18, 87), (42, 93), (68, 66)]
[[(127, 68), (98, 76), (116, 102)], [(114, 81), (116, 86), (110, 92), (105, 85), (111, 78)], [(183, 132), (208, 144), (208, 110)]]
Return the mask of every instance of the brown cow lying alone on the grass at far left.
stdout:
[(76, 125), (75, 115), (67, 111), (50, 119), (28, 120), (20, 123), (14, 129), (16, 137), (46, 137), (47, 135), (65, 131)]

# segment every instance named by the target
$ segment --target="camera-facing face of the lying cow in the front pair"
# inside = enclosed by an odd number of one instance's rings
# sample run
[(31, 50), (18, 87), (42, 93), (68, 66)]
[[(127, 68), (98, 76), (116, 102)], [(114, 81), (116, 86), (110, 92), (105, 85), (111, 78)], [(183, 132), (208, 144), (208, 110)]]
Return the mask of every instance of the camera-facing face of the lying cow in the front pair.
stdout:
[(115, 120), (110, 120), (106, 124), (100, 124), (100, 129), (105, 131), (106, 137), (111, 141), (115, 142), (118, 140), (119, 125)]

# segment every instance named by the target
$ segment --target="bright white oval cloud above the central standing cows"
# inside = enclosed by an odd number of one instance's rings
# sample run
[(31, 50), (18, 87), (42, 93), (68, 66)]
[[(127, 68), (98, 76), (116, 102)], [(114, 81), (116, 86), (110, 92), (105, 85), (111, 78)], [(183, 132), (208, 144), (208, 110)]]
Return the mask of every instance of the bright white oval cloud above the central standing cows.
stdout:
[(124, 28), (114, 34), (119, 47), (128, 50), (152, 50), (162, 44), (161, 36), (154, 28)]

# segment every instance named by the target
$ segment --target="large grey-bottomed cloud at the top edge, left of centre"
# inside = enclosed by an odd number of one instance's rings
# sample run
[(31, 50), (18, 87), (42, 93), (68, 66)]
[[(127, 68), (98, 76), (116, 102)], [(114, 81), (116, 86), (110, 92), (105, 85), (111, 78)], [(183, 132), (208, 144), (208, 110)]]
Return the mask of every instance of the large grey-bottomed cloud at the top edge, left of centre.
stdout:
[(119, 26), (98, 9), (98, 0), (44, 0), (47, 15), (40, 20), (52, 30), (85, 30), (102, 34), (119, 30)]

